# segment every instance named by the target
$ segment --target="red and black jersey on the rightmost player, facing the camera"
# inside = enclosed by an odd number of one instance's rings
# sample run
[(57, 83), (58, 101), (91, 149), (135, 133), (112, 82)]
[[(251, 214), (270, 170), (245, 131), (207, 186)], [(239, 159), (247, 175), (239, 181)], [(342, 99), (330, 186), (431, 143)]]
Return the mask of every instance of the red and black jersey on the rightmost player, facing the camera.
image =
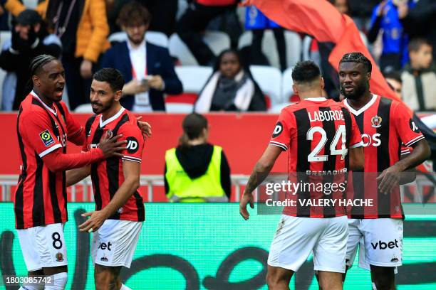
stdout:
[(378, 190), (377, 178), (386, 168), (408, 154), (411, 145), (424, 139), (412, 121), (405, 104), (385, 97), (373, 95), (371, 100), (357, 111), (348, 100), (344, 104), (355, 116), (362, 133), (365, 166), (363, 172), (353, 173), (353, 190), (347, 190), (352, 200), (372, 199), (373, 205), (348, 208), (350, 218), (404, 218), (401, 206), (400, 188), (394, 188), (390, 195)]

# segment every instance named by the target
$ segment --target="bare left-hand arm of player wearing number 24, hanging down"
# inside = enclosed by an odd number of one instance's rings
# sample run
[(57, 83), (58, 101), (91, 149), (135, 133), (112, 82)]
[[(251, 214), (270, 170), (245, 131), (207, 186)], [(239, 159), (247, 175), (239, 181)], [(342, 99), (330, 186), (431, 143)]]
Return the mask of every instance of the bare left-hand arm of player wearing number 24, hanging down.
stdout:
[(253, 172), (249, 177), (248, 183), (246, 183), (244, 194), (242, 195), (241, 201), (239, 203), (239, 213), (242, 215), (244, 220), (249, 219), (249, 213), (246, 210), (246, 205), (250, 203), (250, 207), (254, 208), (253, 195), (251, 194), (262, 181), (268, 176), (269, 171), (273, 168), (277, 157), (283, 151), (281, 148), (273, 145), (266, 147), (264, 154), (261, 156), (259, 161), (257, 161), (256, 166), (254, 166)]

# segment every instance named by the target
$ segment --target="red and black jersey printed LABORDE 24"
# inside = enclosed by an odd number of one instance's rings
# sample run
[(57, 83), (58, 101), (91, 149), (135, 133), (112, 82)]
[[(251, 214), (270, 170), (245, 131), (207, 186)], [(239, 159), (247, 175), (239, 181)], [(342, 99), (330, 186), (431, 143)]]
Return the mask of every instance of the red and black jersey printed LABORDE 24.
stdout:
[[(284, 214), (310, 218), (346, 215), (339, 200), (345, 200), (348, 149), (361, 146), (361, 138), (354, 117), (343, 104), (318, 97), (285, 107), (269, 144), (289, 149), (289, 181), (301, 184), (296, 193), (286, 195), (296, 206), (286, 207)], [(323, 188), (311, 186), (319, 184)], [(324, 190), (326, 186), (333, 188)], [(336, 202), (301, 204), (308, 199)]]

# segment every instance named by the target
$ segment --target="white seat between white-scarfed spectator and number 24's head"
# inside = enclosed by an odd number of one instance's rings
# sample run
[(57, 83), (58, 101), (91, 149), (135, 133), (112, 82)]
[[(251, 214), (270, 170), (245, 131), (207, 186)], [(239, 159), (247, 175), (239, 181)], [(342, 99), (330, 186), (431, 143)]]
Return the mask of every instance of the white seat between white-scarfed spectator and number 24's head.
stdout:
[(250, 71), (267, 98), (268, 108), (283, 102), (281, 99), (281, 73), (279, 69), (263, 65), (251, 65)]

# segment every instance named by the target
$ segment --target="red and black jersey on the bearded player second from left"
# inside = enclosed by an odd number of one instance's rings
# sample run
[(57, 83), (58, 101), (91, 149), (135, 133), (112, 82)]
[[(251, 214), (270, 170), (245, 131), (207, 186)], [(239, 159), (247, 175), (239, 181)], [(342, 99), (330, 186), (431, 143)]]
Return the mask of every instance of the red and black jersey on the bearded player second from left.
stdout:
[[(91, 165), (91, 179), (95, 200), (95, 210), (104, 208), (118, 188), (124, 182), (123, 161), (141, 162), (144, 139), (140, 128), (137, 127), (135, 116), (123, 107), (113, 117), (103, 121), (102, 115), (94, 115), (86, 122), (86, 144), (83, 151), (95, 148), (100, 143), (105, 131), (112, 131), (113, 136), (123, 134), (118, 141), (127, 140), (127, 149), (121, 153), (123, 158), (112, 157)], [(144, 201), (139, 191), (135, 191), (116, 213), (110, 216), (111, 220), (145, 220)]]

